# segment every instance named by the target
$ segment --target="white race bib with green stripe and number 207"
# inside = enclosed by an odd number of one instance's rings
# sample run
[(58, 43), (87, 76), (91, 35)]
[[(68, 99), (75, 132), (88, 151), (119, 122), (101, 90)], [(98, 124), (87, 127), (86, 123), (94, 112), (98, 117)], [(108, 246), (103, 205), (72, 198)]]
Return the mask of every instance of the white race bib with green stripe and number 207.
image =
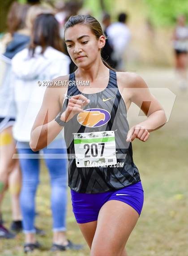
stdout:
[(107, 167), (117, 163), (114, 131), (74, 133), (77, 167)]

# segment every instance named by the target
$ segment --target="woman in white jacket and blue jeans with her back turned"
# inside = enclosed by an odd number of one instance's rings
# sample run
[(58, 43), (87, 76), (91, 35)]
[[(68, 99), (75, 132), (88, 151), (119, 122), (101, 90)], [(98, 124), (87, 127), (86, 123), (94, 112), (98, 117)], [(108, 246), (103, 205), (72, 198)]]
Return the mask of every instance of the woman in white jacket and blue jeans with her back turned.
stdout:
[[(39, 247), (34, 236), (34, 198), (39, 183), (39, 152), (30, 149), (30, 131), (42, 105), (43, 94), (51, 79), (69, 72), (70, 59), (61, 52), (59, 25), (54, 15), (40, 14), (34, 22), (29, 49), (24, 49), (12, 60), (13, 90), (16, 103), (16, 122), (13, 136), (22, 171), (21, 211), (26, 234), (25, 252)], [(47, 119), (46, 113), (46, 119)], [(51, 211), (53, 217), (52, 251), (79, 249), (65, 236), (67, 204), (67, 161), (64, 139), (56, 139), (43, 149), (43, 156), (51, 178)]]

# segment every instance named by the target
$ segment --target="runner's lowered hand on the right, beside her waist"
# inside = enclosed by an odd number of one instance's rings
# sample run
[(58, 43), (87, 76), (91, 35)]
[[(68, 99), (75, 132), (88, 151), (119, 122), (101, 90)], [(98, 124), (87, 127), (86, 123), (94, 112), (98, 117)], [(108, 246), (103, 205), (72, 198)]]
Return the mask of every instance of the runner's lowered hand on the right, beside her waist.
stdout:
[(144, 126), (136, 125), (132, 126), (131, 129), (128, 131), (126, 141), (132, 142), (135, 138), (137, 138), (145, 142), (149, 137), (150, 133)]

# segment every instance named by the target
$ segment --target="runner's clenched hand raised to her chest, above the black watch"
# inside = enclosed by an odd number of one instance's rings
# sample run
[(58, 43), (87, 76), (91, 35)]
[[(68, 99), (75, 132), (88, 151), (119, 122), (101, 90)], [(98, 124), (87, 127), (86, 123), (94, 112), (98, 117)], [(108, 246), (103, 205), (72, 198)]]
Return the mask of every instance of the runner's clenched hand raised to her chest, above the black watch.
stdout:
[(61, 115), (62, 118), (65, 120), (65, 122), (68, 122), (76, 114), (84, 112), (83, 107), (85, 107), (89, 103), (90, 100), (82, 94), (72, 96), (71, 99), (68, 100), (66, 110)]

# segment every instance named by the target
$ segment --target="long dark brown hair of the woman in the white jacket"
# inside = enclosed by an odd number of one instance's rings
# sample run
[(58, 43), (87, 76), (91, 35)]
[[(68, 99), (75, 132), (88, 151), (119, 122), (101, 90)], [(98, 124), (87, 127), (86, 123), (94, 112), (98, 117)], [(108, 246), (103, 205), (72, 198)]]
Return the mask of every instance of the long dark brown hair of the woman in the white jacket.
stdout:
[(34, 21), (29, 46), (31, 57), (34, 56), (35, 48), (38, 45), (42, 46), (41, 54), (44, 53), (48, 46), (63, 52), (59, 23), (51, 13), (39, 14)]

